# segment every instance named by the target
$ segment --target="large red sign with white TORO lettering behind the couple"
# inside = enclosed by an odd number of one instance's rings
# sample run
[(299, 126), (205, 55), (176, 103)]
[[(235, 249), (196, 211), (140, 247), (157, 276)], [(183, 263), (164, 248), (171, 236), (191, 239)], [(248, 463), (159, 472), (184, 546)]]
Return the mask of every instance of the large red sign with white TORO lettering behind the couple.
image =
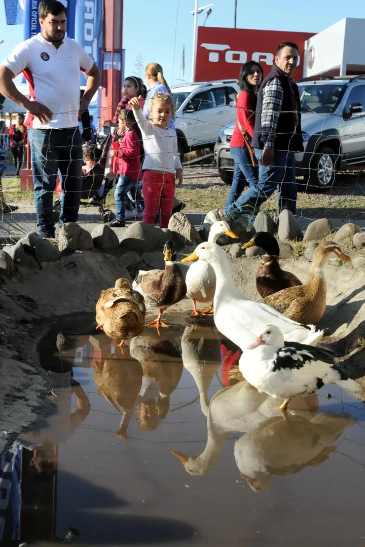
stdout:
[(247, 61), (258, 61), (264, 76), (274, 64), (277, 45), (294, 42), (299, 48), (299, 66), (294, 78), (303, 75), (304, 42), (314, 33), (257, 31), (247, 28), (198, 28), (195, 81), (207, 82), (221, 78), (238, 78)]

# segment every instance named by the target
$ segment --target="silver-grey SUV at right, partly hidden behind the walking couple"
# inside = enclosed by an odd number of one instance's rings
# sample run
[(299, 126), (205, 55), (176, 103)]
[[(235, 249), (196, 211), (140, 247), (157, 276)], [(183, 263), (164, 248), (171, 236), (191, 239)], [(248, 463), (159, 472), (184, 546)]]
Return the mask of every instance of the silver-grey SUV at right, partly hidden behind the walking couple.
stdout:
[[(298, 176), (311, 189), (332, 187), (337, 171), (365, 161), (365, 74), (299, 80), (304, 152), (296, 154)], [(235, 124), (218, 132), (215, 159), (230, 183), (234, 161), (229, 142)]]

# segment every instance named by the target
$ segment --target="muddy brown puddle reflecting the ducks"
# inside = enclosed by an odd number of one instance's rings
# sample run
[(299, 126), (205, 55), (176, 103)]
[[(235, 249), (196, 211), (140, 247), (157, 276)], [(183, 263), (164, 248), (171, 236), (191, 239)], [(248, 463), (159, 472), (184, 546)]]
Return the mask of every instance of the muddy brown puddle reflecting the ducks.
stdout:
[(146, 328), (123, 352), (94, 328), (38, 346), (50, 408), (1, 459), (2, 544), (365, 544), (361, 401), (327, 386), (285, 421), (230, 385), (238, 353), (213, 328)]

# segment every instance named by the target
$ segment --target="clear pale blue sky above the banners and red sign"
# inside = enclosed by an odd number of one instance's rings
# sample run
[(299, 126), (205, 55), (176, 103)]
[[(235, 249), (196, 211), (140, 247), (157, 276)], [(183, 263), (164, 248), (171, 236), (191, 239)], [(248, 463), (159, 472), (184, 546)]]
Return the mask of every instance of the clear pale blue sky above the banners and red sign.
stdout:
[[(202, 0), (200, 5), (211, 3)], [(190, 82), (192, 69), (194, 0), (124, 0), (123, 46), (125, 75), (138, 75), (134, 67), (136, 57), (143, 66), (158, 62), (164, 69), (167, 83), (182, 83), (181, 57), (185, 46), (184, 80)], [(137, 6), (137, 7), (136, 7)], [(254, 9), (257, 7), (257, 10)], [(234, 0), (216, 0), (206, 26), (233, 27)], [(237, 27), (317, 33), (345, 17), (364, 18), (363, 0), (305, 0), (305, 2), (259, 2), (237, 0)], [(205, 13), (198, 15), (198, 25), (204, 23)], [(22, 27), (6, 26), (4, 1), (0, 0), (0, 60), (21, 42)]]

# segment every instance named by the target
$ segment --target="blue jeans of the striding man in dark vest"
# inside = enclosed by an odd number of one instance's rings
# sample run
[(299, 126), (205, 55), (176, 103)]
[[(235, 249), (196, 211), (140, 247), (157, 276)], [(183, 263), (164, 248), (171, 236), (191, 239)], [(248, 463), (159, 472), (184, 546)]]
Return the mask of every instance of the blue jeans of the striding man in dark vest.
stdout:
[(239, 214), (257, 211), (277, 188), (279, 213), (288, 209), (296, 214), (297, 182), (293, 152), (277, 151), (271, 165), (262, 165), (263, 150), (254, 149), (259, 162), (259, 179), (254, 187), (248, 188), (229, 208), (223, 207), (224, 216), (233, 221)]

